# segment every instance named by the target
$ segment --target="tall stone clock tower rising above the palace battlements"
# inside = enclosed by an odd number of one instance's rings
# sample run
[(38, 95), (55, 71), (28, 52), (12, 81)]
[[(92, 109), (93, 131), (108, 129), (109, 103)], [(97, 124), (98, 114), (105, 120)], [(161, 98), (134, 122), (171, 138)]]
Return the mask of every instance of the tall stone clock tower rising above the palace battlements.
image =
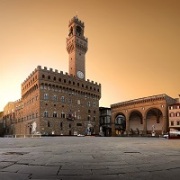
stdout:
[(87, 38), (84, 37), (84, 23), (77, 16), (69, 22), (69, 34), (66, 40), (69, 54), (69, 74), (85, 80), (85, 54)]

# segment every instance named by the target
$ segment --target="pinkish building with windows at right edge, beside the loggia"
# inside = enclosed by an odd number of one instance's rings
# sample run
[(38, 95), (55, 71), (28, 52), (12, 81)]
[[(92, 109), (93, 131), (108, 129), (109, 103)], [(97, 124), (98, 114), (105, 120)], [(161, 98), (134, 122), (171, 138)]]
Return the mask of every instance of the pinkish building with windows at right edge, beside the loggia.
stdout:
[(169, 130), (180, 131), (180, 99), (169, 105)]

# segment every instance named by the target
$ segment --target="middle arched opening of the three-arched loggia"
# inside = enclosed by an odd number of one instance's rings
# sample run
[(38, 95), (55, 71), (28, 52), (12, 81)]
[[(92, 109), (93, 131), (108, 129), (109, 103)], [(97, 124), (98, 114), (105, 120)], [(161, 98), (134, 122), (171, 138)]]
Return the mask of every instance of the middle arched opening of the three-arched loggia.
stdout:
[(141, 112), (135, 110), (130, 113), (129, 130), (131, 134), (140, 134), (143, 131), (143, 117)]

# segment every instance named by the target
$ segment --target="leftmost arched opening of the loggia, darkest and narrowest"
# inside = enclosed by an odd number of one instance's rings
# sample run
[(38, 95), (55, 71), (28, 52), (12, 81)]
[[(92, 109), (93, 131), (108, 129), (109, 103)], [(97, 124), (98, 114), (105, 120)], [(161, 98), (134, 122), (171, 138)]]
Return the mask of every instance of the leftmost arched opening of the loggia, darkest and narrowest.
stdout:
[(118, 114), (114, 121), (116, 135), (124, 134), (126, 130), (126, 117), (124, 114)]

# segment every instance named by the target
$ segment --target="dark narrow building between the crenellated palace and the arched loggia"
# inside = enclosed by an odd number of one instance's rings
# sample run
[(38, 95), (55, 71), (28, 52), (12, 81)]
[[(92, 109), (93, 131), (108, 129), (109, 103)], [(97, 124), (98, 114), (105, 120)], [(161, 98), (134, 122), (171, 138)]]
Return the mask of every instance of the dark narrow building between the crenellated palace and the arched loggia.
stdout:
[(111, 136), (111, 108), (99, 108), (99, 126), (101, 136)]

